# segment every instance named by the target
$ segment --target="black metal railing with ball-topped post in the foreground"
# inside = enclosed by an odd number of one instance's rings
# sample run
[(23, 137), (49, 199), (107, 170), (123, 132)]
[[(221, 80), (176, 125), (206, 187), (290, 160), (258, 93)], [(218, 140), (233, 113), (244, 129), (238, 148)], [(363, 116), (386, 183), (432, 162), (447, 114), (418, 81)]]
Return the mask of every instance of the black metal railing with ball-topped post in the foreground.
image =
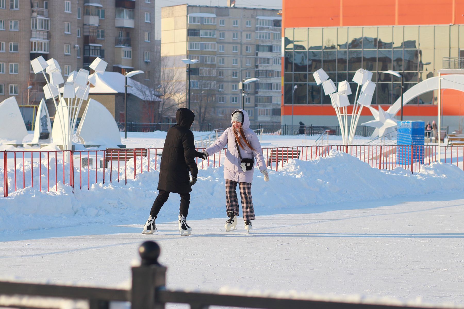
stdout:
[[(141, 265), (132, 267), (132, 288), (130, 290), (105, 289), (52, 284), (26, 284), (0, 281), (0, 295), (56, 297), (71, 300), (87, 300), (89, 309), (109, 309), (110, 302), (131, 302), (131, 309), (163, 309), (166, 303), (185, 303), (191, 309), (208, 309), (210, 306), (245, 307), (262, 309), (422, 309), (431, 307), (409, 307), (374, 303), (343, 303), (297, 298), (277, 298), (261, 296), (240, 296), (215, 293), (185, 292), (167, 290), (167, 268), (158, 263), (160, 247), (153, 241), (146, 241), (139, 247)], [(19, 302), (19, 300), (18, 300)], [(10, 300), (2, 307), (42, 308), (34, 305), (15, 304)], [(440, 308), (446, 308), (440, 306)], [(451, 307), (449, 307), (451, 308)]]

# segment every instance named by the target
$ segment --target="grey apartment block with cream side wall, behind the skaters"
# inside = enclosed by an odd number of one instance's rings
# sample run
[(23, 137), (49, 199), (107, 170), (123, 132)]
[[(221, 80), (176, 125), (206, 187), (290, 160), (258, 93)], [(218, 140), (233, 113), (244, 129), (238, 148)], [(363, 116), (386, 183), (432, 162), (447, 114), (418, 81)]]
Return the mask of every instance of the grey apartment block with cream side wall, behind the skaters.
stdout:
[(281, 19), (274, 9), (187, 4), (161, 8), (162, 62), (183, 84), (185, 94), (188, 72), (181, 59), (199, 60), (190, 65), (190, 104), (196, 120), (227, 124), (232, 111), (242, 108), (239, 82), (257, 77), (258, 82), (245, 85), (243, 96), (251, 125), (280, 125)]

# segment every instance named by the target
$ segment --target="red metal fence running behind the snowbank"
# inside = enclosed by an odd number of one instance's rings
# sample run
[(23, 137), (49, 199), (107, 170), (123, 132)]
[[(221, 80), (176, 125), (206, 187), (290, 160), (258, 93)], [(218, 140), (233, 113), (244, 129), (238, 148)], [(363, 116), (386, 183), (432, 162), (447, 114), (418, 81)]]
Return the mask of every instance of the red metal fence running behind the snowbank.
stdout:
[[(204, 148), (198, 148), (199, 151)], [(422, 164), (438, 161), (457, 165), (464, 170), (464, 146), (438, 145), (327, 145), (263, 148), (268, 169), (278, 171), (292, 158), (315, 160), (326, 157), (331, 150), (346, 152), (373, 168), (393, 170), (401, 167), (411, 172), (420, 172)], [(60, 186), (87, 189), (99, 182), (127, 184), (137, 173), (158, 170), (161, 160), (160, 148), (121, 149), (99, 151), (0, 151), (0, 187), (3, 196), (26, 187), (39, 187), (40, 191), (58, 191)], [(221, 166), (227, 149), (207, 160), (196, 159), (199, 169)], [(400, 154), (400, 155), (398, 155)], [(413, 154), (411, 156), (411, 154)], [(134, 160), (134, 158), (136, 158)]]

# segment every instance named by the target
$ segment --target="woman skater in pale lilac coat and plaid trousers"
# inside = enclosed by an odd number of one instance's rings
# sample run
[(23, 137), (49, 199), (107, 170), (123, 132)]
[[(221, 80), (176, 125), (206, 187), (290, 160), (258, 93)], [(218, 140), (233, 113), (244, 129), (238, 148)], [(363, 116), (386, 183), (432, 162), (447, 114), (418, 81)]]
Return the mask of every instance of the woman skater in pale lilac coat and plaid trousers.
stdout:
[(251, 220), (255, 219), (253, 201), (251, 200), (251, 182), (253, 172), (258, 162), (259, 171), (264, 175), (264, 181), (269, 181), (269, 174), (264, 162), (263, 150), (258, 136), (250, 129), (250, 119), (245, 110), (238, 109), (232, 113), (232, 126), (228, 127), (213, 145), (202, 151), (206, 156), (212, 156), (227, 145), (226, 162), (224, 163), (224, 178), (226, 179), (226, 232), (233, 231), (237, 225), (238, 198), (237, 184), (242, 200), (243, 220), (245, 229), (250, 231)]

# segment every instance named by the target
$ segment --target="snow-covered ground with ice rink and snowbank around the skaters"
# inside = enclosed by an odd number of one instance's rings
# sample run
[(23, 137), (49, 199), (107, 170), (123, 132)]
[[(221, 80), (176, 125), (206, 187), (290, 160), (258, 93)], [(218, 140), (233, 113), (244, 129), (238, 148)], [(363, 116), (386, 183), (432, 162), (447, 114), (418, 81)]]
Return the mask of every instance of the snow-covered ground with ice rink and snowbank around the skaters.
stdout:
[[(123, 144), (160, 148), (165, 134), (129, 133)], [(314, 139), (263, 136), (262, 143), (313, 145)], [(464, 172), (454, 165), (435, 163), (411, 174), (373, 169), (332, 151), (290, 160), (270, 171), (267, 183), (256, 171), (258, 217), (250, 235), (241, 222), (238, 231), (223, 231), (223, 171), (208, 167), (191, 193), (192, 236), (180, 237), (175, 194), (161, 209), (159, 233), (142, 235), (158, 182), (158, 171), (146, 172), (143, 164), (143, 174), (130, 179), (129, 162), (127, 186), (99, 181), (72, 193), (58, 183), (57, 192), (26, 188), (0, 197), (0, 279), (127, 286), (137, 246), (150, 239), (161, 246), (168, 288), (464, 305)]]

